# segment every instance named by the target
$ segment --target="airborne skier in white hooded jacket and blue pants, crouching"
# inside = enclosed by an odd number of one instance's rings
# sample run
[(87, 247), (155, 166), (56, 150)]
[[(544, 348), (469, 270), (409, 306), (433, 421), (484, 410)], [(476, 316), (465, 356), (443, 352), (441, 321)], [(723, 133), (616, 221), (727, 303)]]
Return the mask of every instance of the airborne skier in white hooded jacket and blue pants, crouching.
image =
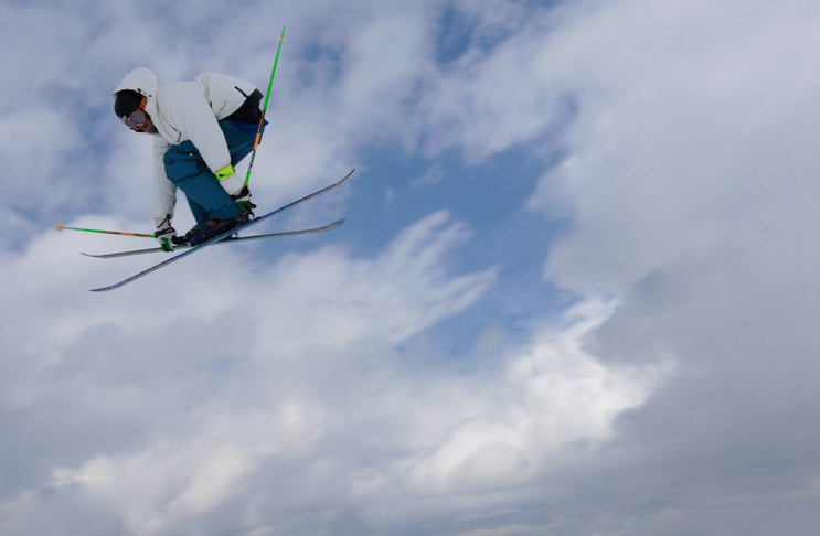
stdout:
[[(259, 89), (216, 73), (157, 87), (157, 76), (139, 67), (111, 95), (114, 111), (128, 128), (155, 137), (153, 221), (162, 249), (196, 245), (251, 218), (256, 205), (234, 165), (254, 148)], [(196, 219), (184, 237), (171, 225), (178, 187)]]

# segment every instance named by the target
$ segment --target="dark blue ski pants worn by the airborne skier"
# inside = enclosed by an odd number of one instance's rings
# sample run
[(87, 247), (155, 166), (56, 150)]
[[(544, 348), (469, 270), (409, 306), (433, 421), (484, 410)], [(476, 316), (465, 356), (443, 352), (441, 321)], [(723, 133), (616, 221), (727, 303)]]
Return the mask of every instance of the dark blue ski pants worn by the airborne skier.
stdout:
[[(258, 125), (223, 119), (220, 128), (231, 152), (231, 165), (236, 167), (253, 151)], [(184, 192), (199, 228), (204, 229), (209, 219), (227, 219), (242, 213), (191, 141), (171, 146), (162, 157), (162, 162), (168, 179)]]

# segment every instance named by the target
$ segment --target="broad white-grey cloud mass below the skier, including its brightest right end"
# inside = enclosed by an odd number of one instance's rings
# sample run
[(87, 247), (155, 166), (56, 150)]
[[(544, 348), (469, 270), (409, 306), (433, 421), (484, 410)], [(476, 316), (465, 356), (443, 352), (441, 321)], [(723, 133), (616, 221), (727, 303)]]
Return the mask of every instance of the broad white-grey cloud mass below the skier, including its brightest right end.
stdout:
[[(99, 297), (89, 293), (63, 300), (71, 318), (58, 307), (7, 325), (24, 364), (9, 376), (15, 385), (3, 386), (3, 406), (40, 417), (12, 422), (6, 437), (19, 447), (29, 444), (22, 438), (70, 430), (77, 439), (58, 449), (30, 444), (56, 468), (47, 476), (18, 470), (12, 489), (24, 491), (6, 501), (4, 530), (81, 528), (89, 511), (107, 519), (100, 534), (168, 534), (219, 511), (231, 513), (230, 526), (273, 527), (279, 522), (269, 501), (297, 512), (347, 504), (368, 524), (391, 526), (427, 518), (423, 497), (467, 493), (481, 503), (499, 484), (531, 485), (550, 470), (550, 455), (609, 437), (615, 416), (640, 405), (665, 372), (607, 368), (585, 354), (579, 342), (610, 314), (606, 307), (573, 311), (568, 330), (509, 349), (501, 374), (460, 377), (427, 369), (425, 360), (413, 365), (412, 345), (402, 351), (493, 283), (492, 269), (445, 269), (468, 236), (435, 213), (372, 259), (324, 248), (242, 268), (241, 257), (214, 248), (200, 254), (206, 269), (185, 278), (201, 289), (188, 299), (163, 290), (179, 272), (158, 272), (127, 309), (114, 297), (106, 314), (95, 313)], [(53, 235), (41, 240), (7, 270), (53, 264), (49, 257), (76, 245), (61, 250), (51, 247)], [(104, 267), (95, 279), (117, 271), (82, 260)], [(78, 264), (62, 266), (75, 286)], [(41, 293), (67, 286), (30, 277)], [(62, 425), (34, 431), (40, 420)], [(271, 489), (265, 474), (279, 484)], [(289, 496), (303, 479), (310, 486)], [(445, 503), (465, 512), (476, 504)]]

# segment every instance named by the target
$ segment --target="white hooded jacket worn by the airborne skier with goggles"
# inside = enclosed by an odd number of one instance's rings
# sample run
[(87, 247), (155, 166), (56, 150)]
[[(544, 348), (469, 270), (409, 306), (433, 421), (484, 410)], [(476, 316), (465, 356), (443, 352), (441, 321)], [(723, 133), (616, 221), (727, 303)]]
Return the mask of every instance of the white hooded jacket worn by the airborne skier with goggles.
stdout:
[[(111, 95), (131, 89), (146, 96), (146, 112), (158, 135), (153, 138), (153, 217), (173, 215), (177, 186), (168, 180), (162, 157), (171, 146), (191, 141), (213, 172), (231, 163), (225, 136), (216, 121), (236, 111), (256, 89), (252, 83), (216, 73), (192, 82), (157, 87), (157, 75), (135, 68)], [(228, 192), (234, 193), (234, 192)]]

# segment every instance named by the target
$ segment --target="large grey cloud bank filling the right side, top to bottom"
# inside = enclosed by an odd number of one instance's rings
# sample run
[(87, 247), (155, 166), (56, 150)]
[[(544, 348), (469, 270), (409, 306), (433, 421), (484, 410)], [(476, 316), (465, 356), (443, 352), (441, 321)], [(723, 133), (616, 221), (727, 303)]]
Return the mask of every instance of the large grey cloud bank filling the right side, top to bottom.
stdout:
[[(808, 517), (787, 512), (816, 495), (816, 460), (796, 446), (814, 441), (801, 422), (817, 404), (807, 229), (818, 192), (806, 141), (818, 139), (819, 81), (799, 65), (820, 13), (801, 2), (734, 8), (601, 4), (558, 29), (536, 62), (577, 99), (566, 158), (531, 199), (568, 222), (545, 276), (616, 297), (587, 339), (603, 363), (678, 363), (674, 380), (621, 416), (599, 459), (613, 464), (599, 481), (618, 475), (617, 486), (592, 484), (618, 512), (605, 533), (800, 532)], [(766, 499), (775, 489), (791, 500)], [(658, 507), (626, 514), (641, 501)]]

